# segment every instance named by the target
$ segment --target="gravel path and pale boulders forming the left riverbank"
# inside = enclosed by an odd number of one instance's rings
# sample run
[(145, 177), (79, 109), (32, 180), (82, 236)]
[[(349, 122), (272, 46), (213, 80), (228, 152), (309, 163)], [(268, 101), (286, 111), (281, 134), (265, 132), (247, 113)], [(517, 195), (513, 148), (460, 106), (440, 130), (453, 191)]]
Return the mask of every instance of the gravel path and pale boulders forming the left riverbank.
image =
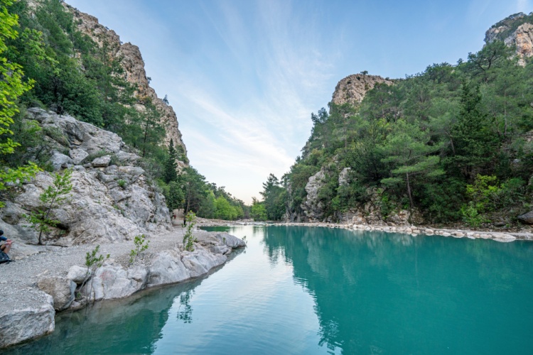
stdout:
[(87, 300), (129, 297), (139, 290), (179, 283), (205, 275), (227, 261), (244, 241), (227, 233), (195, 230), (194, 251), (184, 251), (183, 229), (151, 236), (149, 249), (129, 265), (133, 241), (102, 244), (110, 255), (90, 278), (86, 253), (94, 244), (67, 248), (42, 246), (41, 253), (2, 264), (0, 280), (0, 349), (43, 337), (55, 329), (55, 313), (85, 307)]

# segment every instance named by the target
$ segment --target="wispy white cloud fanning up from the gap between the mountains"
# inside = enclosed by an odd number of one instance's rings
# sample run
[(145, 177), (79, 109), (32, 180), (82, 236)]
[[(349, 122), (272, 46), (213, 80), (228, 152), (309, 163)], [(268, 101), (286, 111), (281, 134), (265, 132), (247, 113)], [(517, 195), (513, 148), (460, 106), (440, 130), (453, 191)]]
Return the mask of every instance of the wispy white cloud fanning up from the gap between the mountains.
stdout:
[[(230, 55), (227, 59), (255, 76), (257, 87), (232, 85), (236, 92), (228, 93), (220, 85), (198, 85), (185, 77), (173, 90), (188, 105), (181, 127), (193, 165), (217, 180), (231, 172), (232, 180), (220, 184), (228, 190), (236, 185), (230, 191), (249, 202), (269, 173), (281, 177), (294, 163), (311, 129), (311, 111), (319, 108), (313, 103), (330, 92), (325, 81), (332, 65), (316, 40), (319, 33), (312, 23), (298, 21), (289, 1), (259, 1), (246, 21), (249, 13), (232, 3), (218, 5), (217, 16), (212, 8), (204, 11)], [(247, 89), (257, 92), (249, 95)]]

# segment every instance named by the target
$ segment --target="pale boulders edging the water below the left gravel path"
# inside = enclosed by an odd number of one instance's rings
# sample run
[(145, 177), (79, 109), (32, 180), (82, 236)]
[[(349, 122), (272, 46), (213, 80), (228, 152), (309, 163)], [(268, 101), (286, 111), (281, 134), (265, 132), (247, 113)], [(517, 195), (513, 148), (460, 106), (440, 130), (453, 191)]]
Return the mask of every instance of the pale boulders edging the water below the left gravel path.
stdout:
[[(166, 234), (160, 237), (178, 236)], [(0, 305), (0, 349), (53, 332), (56, 311), (77, 310), (85, 307), (87, 300), (124, 298), (145, 288), (197, 278), (225, 263), (233, 249), (246, 246), (242, 239), (227, 233), (197, 231), (195, 237), (198, 242), (194, 243), (194, 251), (183, 251), (181, 244), (171, 241), (164, 244), (164, 249), (146, 251), (146, 256), (132, 266), (124, 262), (129, 255), (126, 250), (118, 248), (125, 254), (114, 253), (117, 259), (104, 261), (94, 275), (81, 266), (65, 267), (63, 264), (72, 261), (72, 256), (65, 256), (62, 251), (53, 253), (51, 257), (55, 258), (56, 268), (36, 275), (38, 288), (17, 290), (1, 286), (0, 293), (6, 298)], [(158, 242), (154, 240), (154, 243), (157, 245)], [(75, 249), (77, 247), (70, 250)], [(78, 251), (78, 256), (82, 256), (83, 251)], [(37, 265), (41, 263), (37, 262)]]

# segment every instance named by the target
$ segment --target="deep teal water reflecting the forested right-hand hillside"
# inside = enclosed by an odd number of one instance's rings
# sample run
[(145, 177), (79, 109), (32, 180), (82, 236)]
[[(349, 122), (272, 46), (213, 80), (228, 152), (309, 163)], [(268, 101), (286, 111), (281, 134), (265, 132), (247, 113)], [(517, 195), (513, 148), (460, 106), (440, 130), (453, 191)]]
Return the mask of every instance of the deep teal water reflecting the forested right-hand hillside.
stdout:
[(270, 227), (264, 249), (271, 263), (291, 264), (295, 282), (316, 300), (320, 344), (330, 350), (509, 352), (493, 340), (502, 335), (495, 322), (511, 328), (516, 351), (531, 349), (517, 323), (533, 319), (513, 302), (533, 294), (532, 244)]

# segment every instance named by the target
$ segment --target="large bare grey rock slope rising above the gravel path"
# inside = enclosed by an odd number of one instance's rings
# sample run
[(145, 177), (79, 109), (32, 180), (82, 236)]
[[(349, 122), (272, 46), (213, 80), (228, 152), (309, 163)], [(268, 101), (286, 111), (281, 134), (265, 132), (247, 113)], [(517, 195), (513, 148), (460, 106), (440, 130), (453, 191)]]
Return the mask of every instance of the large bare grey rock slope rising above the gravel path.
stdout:
[[(56, 244), (122, 241), (142, 233), (170, 230), (163, 195), (136, 166), (139, 156), (129, 151), (117, 134), (42, 109), (28, 109), (28, 119), (53, 132), (46, 138), (55, 148), (51, 159), (55, 170), (73, 170), (70, 198), (53, 210), (59, 221), (58, 229), (53, 231)], [(27, 226), (23, 215), (39, 208), (39, 196), (50, 185), (53, 175), (38, 173), (22, 185), (21, 193), (7, 202), (6, 208), (0, 209), (6, 232), (23, 242), (17, 243), (12, 256), (31, 253), (23, 251), (22, 246), (35, 244), (37, 234)], [(18, 249), (21, 255), (17, 255)]]

